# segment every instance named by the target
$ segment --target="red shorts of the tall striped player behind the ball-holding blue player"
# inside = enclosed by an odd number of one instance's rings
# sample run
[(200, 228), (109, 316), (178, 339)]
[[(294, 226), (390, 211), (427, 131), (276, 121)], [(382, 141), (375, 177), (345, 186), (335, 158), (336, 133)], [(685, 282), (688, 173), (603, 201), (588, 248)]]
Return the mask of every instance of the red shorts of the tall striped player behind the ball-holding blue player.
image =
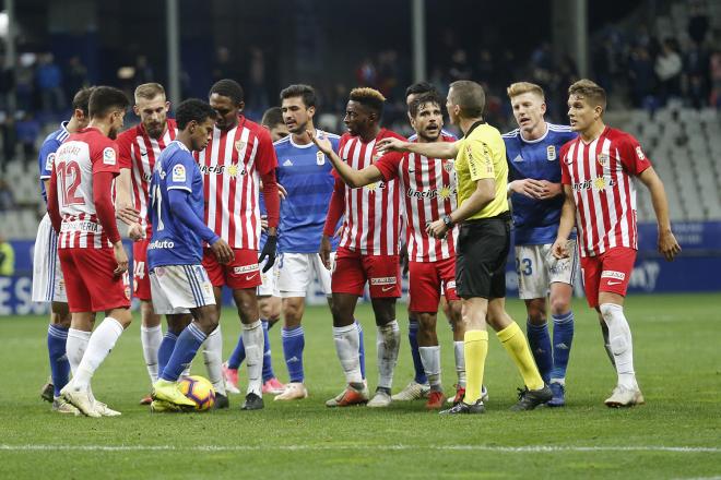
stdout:
[(223, 265), (211, 249), (203, 249), (203, 266), (213, 287), (227, 285), (232, 290), (245, 290), (261, 285), (258, 250), (233, 249), (233, 253), (231, 263)]

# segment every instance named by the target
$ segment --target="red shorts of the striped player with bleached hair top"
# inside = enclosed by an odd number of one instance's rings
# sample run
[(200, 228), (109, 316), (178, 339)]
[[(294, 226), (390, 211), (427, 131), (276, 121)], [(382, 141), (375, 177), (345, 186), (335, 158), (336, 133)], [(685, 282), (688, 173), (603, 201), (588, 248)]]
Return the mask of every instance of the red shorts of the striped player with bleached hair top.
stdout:
[(350, 249), (338, 249), (331, 277), (333, 293), (362, 297), (366, 281), (370, 298), (399, 298), (401, 267), (398, 255), (363, 255)]

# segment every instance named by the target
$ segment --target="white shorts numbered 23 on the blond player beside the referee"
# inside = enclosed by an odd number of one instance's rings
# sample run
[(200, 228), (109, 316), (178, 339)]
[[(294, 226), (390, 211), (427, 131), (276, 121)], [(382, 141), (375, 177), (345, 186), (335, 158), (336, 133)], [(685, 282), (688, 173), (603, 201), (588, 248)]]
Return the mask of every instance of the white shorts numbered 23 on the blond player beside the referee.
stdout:
[(551, 243), (516, 247), (519, 298), (545, 298), (551, 284), (556, 281), (574, 285), (578, 263), (576, 240), (568, 240), (568, 259), (553, 256), (551, 247)]

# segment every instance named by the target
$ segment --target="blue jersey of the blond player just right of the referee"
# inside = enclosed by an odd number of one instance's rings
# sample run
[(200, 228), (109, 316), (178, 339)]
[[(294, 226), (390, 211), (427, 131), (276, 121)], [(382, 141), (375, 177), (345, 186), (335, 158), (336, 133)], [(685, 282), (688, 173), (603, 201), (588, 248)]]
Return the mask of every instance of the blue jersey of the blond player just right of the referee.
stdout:
[[(539, 140), (527, 141), (519, 129), (506, 133), (508, 181), (531, 178), (560, 183), (560, 147), (574, 139), (570, 127), (546, 123), (548, 129)], [(534, 200), (520, 193), (511, 194), (516, 244), (539, 245), (553, 243), (558, 232), (564, 196)]]

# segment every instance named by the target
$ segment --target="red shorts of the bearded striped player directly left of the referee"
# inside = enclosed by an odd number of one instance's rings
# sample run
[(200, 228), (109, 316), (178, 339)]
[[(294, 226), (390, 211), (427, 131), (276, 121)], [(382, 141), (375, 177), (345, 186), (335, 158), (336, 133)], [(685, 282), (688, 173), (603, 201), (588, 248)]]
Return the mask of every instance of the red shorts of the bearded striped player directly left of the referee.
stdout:
[(442, 288), (446, 300), (458, 300), (456, 295), (456, 257), (436, 262), (409, 262), (411, 279), (409, 309), (412, 312), (437, 312)]

